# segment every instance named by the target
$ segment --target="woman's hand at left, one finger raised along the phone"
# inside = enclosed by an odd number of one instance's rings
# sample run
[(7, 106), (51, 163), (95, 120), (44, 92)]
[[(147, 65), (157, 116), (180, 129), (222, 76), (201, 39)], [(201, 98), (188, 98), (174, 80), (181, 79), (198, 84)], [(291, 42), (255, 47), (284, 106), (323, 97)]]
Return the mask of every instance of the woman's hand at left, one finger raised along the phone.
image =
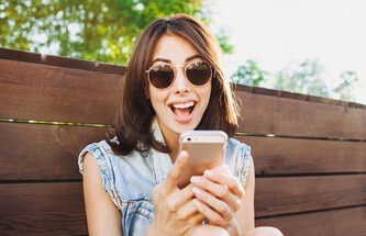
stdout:
[(146, 235), (184, 235), (204, 216), (192, 203), (192, 184), (178, 188), (178, 178), (188, 160), (188, 153), (182, 150), (173, 165), (165, 182), (154, 188), (154, 221)]

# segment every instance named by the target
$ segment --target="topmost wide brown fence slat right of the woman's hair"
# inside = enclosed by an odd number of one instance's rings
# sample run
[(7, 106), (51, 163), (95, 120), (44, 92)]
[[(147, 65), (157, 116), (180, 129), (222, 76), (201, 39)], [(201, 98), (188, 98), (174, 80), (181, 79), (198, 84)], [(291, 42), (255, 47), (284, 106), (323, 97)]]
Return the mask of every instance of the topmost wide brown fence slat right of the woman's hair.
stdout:
[(366, 109), (237, 91), (241, 132), (366, 141)]

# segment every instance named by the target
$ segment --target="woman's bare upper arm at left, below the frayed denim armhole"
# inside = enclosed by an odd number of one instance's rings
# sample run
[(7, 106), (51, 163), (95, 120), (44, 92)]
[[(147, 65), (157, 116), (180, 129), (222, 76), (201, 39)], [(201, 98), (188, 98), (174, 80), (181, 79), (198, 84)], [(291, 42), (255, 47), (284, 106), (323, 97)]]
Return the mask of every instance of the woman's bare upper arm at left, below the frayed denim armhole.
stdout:
[(90, 153), (85, 157), (82, 182), (89, 235), (121, 236), (121, 212), (102, 189), (99, 166)]

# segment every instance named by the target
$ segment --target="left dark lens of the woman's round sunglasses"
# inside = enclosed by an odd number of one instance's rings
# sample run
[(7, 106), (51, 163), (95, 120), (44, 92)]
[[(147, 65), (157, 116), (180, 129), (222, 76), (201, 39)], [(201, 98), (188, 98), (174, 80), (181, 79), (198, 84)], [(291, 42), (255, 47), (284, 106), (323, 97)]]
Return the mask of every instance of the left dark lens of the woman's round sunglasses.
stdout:
[(157, 65), (148, 71), (149, 82), (158, 88), (168, 88), (174, 80), (174, 69), (169, 65)]

